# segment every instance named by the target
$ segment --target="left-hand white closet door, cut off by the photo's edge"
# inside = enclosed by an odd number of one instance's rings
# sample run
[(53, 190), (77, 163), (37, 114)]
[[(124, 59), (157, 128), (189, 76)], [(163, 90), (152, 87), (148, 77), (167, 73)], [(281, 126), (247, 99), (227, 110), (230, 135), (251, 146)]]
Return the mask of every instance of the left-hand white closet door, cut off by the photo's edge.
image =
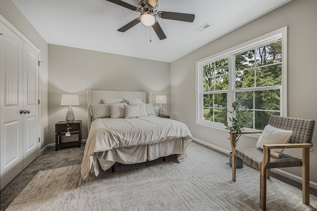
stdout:
[(23, 41), (0, 22), (0, 188), (23, 169)]

